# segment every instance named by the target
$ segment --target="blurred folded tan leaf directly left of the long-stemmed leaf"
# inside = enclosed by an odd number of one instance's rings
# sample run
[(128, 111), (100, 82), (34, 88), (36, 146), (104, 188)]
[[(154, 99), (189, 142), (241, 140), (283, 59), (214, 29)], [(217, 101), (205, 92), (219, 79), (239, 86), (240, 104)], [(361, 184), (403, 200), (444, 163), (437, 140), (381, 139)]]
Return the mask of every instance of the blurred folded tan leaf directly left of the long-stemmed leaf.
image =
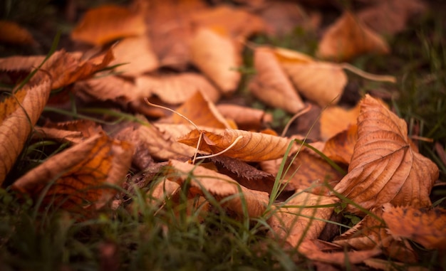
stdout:
[(249, 90), (259, 100), (271, 107), (279, 107), (291, 113), (299, 112), (305, 107), (271, 48), (255, 49), (254, 67), (257, 74), (251, 80)]

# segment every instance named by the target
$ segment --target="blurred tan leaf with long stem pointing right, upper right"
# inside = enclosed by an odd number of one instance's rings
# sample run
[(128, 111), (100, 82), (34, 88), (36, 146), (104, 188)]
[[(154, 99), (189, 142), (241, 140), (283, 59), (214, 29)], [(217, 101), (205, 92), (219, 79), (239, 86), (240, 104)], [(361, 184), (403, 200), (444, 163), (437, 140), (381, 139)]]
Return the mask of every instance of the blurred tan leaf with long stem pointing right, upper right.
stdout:
[(321, 107), (336, 104), (341, 99), (347, 84), (341, 65), (316, 61), (304, 53), (284, 48), (276, 48), (274, 53), (299, 94)]

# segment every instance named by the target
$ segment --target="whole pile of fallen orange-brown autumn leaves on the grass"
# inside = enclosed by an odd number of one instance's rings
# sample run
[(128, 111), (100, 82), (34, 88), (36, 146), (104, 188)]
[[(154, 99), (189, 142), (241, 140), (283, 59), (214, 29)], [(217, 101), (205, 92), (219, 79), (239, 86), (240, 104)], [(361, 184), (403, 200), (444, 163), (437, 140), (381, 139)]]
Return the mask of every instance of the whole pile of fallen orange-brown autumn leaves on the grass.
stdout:
[[(0, 59), (12, 86), (1, 92), (0, 183), (78, 220), (137, 208), (138, 188), (160, 209), (180, 194), (200, 216), (218, 203), (251, 224), (264, 218), (266, 238), (321, 267), (416, 267), (419, 248), (445, 256), (446, 211), (430, 200), (439, 169), (408, 124), (373, 92), (338, 105), (352, 74), (396, 82), (347, 61), (390, 54), (383, 37), (427, 9), (375, 1), (326, 26), (288, 1), (89, 9), (70, 34), (81, 49)], [(0, 24), (1, 42), (36, 43)], [(319, 33), (314, 56), (253, 42), (296, 26)], [(255, 72), (244, 73), (246, 51)], [(240, 92), (295, 117), (270, 129), (269, 112), (234, 102)], [(41, 156), (38, 144), (48, 144)]]

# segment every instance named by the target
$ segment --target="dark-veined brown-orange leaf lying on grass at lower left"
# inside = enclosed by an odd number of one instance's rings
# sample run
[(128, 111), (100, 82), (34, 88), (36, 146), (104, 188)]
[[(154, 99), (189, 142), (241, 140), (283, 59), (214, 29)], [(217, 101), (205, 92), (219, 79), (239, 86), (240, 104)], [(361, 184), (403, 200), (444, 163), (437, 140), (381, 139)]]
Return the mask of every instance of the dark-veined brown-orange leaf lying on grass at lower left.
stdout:
[[(51, 156), (43, 164), (18, 179), (13, 188), (38, 198), (44, 207), (82, 211), (98, 209), (116, 190), (107, 185), (120, 185), (130, 168), (133, 146), (126, 142), (97, 135)], [(87, 206), (85, 205), (87, 202)]]

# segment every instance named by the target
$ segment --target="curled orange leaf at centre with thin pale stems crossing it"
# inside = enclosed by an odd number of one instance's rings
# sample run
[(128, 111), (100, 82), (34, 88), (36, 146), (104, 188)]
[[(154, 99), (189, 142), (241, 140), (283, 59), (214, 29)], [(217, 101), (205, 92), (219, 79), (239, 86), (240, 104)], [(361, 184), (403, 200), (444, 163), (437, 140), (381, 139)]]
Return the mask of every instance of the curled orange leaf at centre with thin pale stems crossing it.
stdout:
[[(224, 152), (224, 156), (241, 159), (243, 161), (264, 161), (284, 156), (290, 140), (285, 137), (276, 137), (271, 134), (247, 132), (236, 129), (225, 129), (219, 132), (202, 131), (202, 141), (199, 150), (210, 154), (217, 154), (235, 142), (239, 141)], [(196, 147), (200, 132), (197, 129), (178, 139), (178, 142)]]

